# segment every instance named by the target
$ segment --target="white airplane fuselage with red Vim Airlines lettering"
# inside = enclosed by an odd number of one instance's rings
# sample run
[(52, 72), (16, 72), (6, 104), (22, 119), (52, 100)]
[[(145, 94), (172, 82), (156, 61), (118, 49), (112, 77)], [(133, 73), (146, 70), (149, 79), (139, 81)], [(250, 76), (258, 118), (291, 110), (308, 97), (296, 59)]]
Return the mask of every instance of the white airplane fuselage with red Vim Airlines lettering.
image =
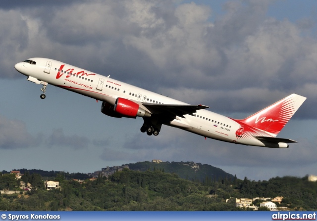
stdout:
[[(143, 103), (186, 104), (53, 59), (30, 58), (30, 60), (36, 61), (36, 65), (27, 62), (15, 65), (15, 69), (28, 76), (29, 81), (37, 84), (48, 83), (111, 105), (114, 105), (118, 97), (132, 100), (145, 110), (148, 109), (142, 105)], [(240, 124), (220, 114), (198, 110), (195, 116), (185, 115), (184, 117), (176, 118), (166, 125), (226, 142), (265, 146), (254, 137), (237, 139), (236, 131), (239, 130)]]

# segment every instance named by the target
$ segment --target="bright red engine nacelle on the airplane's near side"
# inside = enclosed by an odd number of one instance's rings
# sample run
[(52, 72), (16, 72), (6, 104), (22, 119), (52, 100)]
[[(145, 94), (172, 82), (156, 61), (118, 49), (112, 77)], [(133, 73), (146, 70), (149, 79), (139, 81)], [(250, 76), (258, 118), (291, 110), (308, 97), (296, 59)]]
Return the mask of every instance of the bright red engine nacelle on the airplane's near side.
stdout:
[(151, 117), (151, 114), (141, 108), (139, 104), (122, 97), (118, 97), (116, 99), (113, 110), (115, 113), (120, 114), (122, 117)]

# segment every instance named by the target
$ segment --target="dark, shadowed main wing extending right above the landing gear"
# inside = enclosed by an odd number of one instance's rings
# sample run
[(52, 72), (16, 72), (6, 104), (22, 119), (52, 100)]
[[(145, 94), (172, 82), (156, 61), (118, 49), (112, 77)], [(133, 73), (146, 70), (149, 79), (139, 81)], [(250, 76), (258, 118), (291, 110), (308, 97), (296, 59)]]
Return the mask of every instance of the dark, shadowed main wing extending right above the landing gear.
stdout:
[(154, 115), (164, 115), (175, 119), (176, 117), (185, 118), (184, 115), (194, 116), (197, 110), (209, 108), (205, 105), (184, 105), (184, 104), (152, 104), (143, 103)]

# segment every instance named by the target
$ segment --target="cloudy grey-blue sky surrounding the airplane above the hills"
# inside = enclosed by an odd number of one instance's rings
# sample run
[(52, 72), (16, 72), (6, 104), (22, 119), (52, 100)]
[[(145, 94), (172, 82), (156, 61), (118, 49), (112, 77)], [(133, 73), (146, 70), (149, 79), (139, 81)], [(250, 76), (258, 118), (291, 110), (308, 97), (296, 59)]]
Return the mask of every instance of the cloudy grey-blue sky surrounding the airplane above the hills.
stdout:
[[(317, 175), (316, 0), (33, 0), (0, 5), (0, 171), (89, 173), (138, 161), (194, 161), (243, 179)], [(242, 119), (291, 94), (307, 100), (278, 137), (235, 145), (28, 82), (14, 64), (48, 57)]]

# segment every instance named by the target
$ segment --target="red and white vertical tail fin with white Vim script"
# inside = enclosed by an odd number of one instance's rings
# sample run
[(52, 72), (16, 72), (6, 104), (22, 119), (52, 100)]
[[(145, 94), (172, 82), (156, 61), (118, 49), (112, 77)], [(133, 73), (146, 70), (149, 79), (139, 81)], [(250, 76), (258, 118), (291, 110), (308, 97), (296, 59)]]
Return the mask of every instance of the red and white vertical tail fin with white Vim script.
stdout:
[(306, 97), (293, 93), (240, 122), (275, 137), (305, 100)]

